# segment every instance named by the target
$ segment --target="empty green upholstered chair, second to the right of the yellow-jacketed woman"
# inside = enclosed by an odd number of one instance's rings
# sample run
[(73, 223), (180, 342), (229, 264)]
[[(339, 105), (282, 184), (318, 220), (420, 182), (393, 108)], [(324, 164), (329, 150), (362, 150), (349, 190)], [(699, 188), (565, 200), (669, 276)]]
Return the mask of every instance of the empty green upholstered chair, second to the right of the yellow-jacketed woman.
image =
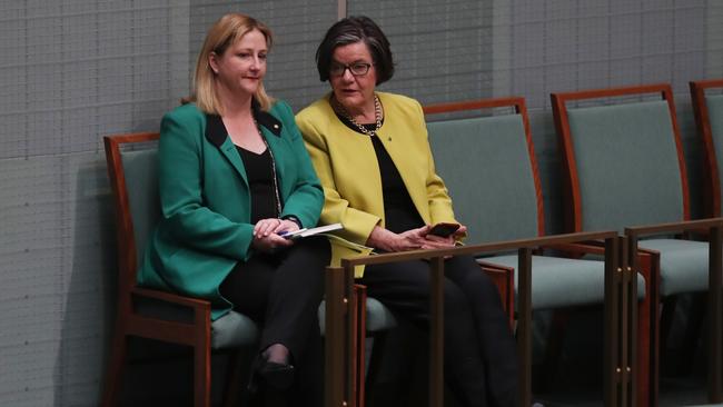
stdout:
[[(668, 85), (553, 93), (552, 102), (568, 198), (567, 231), (623, 231), (690, 220), (685, 159)], [(640, 405), (653, 406), (660, 298), (707, 289), (709, 244), (653, 236), (637, 247), (638, 271), (651, 298), (650, 306), (638, 307), (638, 318), (651, 316), (651, 330), (637, 332), (641, 375), (634, 389)], [(646, 365), (648, 376), (642, 374)]]

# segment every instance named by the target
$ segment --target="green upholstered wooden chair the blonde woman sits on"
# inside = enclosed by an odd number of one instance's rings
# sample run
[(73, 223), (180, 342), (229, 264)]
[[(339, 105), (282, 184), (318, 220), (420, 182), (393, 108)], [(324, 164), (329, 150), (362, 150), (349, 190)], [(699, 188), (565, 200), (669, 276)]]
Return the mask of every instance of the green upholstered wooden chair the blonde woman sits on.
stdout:
[[(127, 339), (135, 336), (192, 347), (194, 405), (207, 407), (211, 403), (211, 349), (251, 346), (258, 327), (236, 311), (211, 321), (209, 301), (136, 285), (142, 249), (160, 218), (157, 140), (158, 133), (105, 137), (118, 229), (118, 306), (102, 406), (118, 401)], [(230, 366), (235, 368), (229, 384), (239, 383), (239, 364)], [(227, 386), (227, 405), (235, 403), (236, 390)]]

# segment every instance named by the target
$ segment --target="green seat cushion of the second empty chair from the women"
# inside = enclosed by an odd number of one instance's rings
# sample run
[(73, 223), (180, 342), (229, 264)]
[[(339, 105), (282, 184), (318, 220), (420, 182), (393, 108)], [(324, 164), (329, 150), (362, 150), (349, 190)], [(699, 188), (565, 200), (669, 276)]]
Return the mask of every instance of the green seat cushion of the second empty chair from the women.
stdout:
[(709, 244), (680, 239), (641, 240), (640, 247), (661, 252), (661, 295), (707, 289)]

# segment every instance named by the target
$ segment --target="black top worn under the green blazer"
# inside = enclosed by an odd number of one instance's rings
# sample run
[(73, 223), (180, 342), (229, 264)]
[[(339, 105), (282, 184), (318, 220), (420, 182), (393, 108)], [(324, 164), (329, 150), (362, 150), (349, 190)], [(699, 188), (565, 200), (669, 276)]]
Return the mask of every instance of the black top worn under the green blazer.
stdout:
[(260, 155), (236, 146), (246, 168), (246, 178), (251, 195), (251, 224), (261, 219), (278, 218), (276, 186), (268, 148)]

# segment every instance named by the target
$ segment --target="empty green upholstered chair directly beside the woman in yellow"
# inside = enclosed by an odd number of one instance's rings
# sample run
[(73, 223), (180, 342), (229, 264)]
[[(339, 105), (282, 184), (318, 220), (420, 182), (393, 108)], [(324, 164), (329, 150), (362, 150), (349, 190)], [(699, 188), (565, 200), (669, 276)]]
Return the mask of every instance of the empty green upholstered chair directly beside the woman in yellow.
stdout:
[[(449, 189), (455, 216), (468, 227), (465, 242), (544, 236), (543, 193), (524, 99), (450, 103), (425, 111), (467, 117), (427, 123), (437, 172)], [(517, 291), (516, 254), (479, 261), (515, 270)], [(603, 261), (534, 255), (532, 308), (602, 305), (604, 270)]]

